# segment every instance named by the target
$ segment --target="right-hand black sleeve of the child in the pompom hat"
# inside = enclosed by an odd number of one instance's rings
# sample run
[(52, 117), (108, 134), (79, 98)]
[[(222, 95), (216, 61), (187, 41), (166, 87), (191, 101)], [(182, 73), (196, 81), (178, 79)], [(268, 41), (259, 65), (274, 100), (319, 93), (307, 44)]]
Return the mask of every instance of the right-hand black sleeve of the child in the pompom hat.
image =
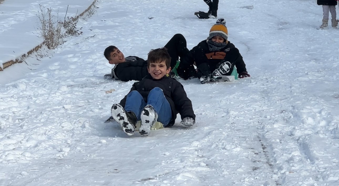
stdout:
[(239, 49), (236, 47), (231, 48), (230, 51), (227, 52), (223, 61), (228, 61), (231, 64), (234, 64), (237, 67), (238, 74), (246, 72), (245, 62), (242, 59)]

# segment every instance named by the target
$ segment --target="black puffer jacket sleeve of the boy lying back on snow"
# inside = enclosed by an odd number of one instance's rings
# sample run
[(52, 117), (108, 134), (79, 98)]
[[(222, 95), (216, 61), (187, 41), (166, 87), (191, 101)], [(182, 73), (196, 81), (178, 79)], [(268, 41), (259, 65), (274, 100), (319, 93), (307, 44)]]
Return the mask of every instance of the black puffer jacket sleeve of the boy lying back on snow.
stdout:
[(124, 82), (130, 80), (141, 81), (148, 74), (147, 61), (129, 61), (120, 63), (115, 69), (115, 74)]

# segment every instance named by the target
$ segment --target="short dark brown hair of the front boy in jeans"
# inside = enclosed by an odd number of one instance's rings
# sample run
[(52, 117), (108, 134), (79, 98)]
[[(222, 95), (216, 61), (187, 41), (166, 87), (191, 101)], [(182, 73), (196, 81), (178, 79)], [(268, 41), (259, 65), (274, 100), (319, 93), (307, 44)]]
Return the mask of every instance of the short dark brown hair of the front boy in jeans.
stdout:
[(167, 48), (162, 47), (149, 51), (147, 58), (148, 68), (151, 63), (161, 63), (163, 61), (165, 61), (166, 68), (168, 69), (171, 66), (171, 56), (169, 56)]

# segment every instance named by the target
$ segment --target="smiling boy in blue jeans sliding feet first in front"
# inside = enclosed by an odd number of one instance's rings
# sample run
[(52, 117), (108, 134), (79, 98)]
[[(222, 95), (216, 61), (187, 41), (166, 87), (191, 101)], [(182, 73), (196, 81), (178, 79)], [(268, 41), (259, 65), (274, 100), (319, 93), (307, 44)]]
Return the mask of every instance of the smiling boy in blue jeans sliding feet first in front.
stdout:
[(166, 48), (151, 50), (147, 59), (149, 74), (133, 84), (120, 104), (113, 104), (112, 117), (127, 135), (135, 134), (138, 120), (141, 120), (139, 133), (143, 136), (149, 135), (156, 121), (164, 127), (173, 126), (178, 113), (181, 115), (181, 124), (194, 125), (191, 100), (177, 80), (166, 76), (171, 70), (170, 65), (171, 56)]

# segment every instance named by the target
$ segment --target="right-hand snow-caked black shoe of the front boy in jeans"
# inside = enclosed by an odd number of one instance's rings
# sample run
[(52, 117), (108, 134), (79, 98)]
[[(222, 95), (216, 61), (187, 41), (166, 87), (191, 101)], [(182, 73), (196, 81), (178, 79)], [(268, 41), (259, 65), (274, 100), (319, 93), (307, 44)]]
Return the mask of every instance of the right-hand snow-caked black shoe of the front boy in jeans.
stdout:
[(139, 128), (139, 133), (143, 136), (148, 136), (151, 132), (151, 127), (158, 119), (158, 114), (154, 111), (154, 108), (148, 104), (141, 111), (140, 119), (141, 126)]

